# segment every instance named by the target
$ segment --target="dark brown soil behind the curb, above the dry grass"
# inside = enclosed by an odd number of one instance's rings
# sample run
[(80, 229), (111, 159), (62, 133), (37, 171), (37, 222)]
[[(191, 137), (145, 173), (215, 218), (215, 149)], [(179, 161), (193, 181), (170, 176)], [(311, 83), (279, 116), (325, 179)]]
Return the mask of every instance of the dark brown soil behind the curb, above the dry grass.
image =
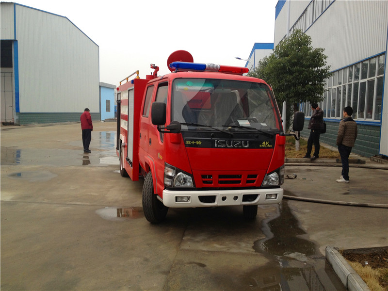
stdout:
[(358, 262), (362, 266), (369, 265), (383, 274), (379, 278), (380, 286), (388, 290), (388, 246), (368, 249), (344, 250), (342, 256), (348, 261)]

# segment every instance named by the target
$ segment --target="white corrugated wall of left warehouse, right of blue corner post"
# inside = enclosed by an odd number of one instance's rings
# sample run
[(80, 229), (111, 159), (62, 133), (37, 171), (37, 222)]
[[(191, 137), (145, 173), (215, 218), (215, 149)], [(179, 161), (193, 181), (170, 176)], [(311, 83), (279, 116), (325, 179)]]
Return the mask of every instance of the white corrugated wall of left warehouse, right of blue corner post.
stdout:
[(99, 112), (98, 46), (62, 16), (16, 4), (20, 113)]

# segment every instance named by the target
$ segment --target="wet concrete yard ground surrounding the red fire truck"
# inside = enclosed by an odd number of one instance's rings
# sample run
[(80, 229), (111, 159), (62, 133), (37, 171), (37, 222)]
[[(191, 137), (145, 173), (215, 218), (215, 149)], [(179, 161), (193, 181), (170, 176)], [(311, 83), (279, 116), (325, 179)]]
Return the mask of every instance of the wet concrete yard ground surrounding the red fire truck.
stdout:
[[(284, 199), (143, 217), (143, 181), (118, 172), (113, 122), (1, 127), (1, 290), (344, 290), (325, 247), (388, 245), (388, 209)], [(285, 194), (388, 204), (388, 171), (287, 165)], [(362, 166), (362, 165), (361, 165)], [(276, 289), (277, 288), (277, 289)]]

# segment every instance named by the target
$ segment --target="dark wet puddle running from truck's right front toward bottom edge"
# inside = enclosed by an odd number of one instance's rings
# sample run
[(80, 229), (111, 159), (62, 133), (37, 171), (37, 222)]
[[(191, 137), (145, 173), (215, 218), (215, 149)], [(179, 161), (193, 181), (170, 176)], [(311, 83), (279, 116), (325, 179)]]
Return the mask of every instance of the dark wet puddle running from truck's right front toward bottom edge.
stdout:
[(265, 271), (260, 268), (259, 277), (251, 275), (259, 290), (342, 290), (330, 280), (335, 278), (333, 271), (320, 258), (317, 245), (304, 238), (306, 232), (286, 201), (262, 221), (262, 231), (266, 238), (254, 242), (253, 248), (271, 263)]

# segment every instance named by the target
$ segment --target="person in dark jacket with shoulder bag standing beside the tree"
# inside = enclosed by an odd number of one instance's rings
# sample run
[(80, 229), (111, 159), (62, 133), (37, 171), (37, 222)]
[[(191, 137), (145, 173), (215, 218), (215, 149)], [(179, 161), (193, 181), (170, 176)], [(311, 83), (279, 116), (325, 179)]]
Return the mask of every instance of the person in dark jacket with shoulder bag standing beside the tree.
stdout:
[[(314, 161), (315, 159), (319, 158), (319, 137), (321, 135), (321, 132), (323, 131), (323, 110), (319, 108), (317, 103), (311, 104), (311, 118), (308, 123), (307, 129), (311, 129), (310, 136), (307, 140), (307, 153), (306, 156), (304, 156), (304, 159), (311, 159), (311, 161)], [(314, 155), (311, 157), (311, 150), (312, 145), (314, 144)]]

